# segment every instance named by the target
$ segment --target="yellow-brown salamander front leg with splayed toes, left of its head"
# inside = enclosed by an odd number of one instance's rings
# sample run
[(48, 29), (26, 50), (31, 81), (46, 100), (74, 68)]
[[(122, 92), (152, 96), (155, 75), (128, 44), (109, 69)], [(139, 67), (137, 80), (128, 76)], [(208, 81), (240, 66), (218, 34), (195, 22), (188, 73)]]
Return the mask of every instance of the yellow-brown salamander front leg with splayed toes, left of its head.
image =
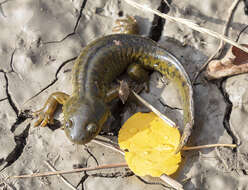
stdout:
[(45, 127), (47, 124), (53, 124), (53, 116), (58, 104), (64, 104), (68, 98), (69, 95), (63, 92), (52, 93), (48, 97), (43, 108), (33, 113), (34, 116), (38, 116), (38, 119), (34, 123), (34, 126)]

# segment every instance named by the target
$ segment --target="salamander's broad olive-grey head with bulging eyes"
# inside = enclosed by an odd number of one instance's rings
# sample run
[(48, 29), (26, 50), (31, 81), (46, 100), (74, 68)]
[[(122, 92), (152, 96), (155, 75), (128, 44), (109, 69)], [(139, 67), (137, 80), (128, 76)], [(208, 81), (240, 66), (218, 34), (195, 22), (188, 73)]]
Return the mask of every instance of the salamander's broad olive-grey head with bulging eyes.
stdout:
[(107, 106), (99, 99), (71, 97), (63, 106), (64, 130), (77, 144), (92, 140), (108, 118)]

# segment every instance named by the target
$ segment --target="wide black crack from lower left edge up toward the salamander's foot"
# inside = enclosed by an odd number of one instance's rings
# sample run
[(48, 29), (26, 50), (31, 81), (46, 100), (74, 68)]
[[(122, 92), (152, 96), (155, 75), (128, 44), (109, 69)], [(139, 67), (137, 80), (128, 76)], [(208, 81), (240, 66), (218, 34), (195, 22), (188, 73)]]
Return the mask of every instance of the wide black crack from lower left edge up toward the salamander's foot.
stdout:
[(4, 160), (4, 162), (7, 162), (7, 163), (0, 170), (0, 172), (3, 171), (5, 168), (11, 166), (21, 156), (21, 154), (23, 153), (23, 149), (27, 143), (26, 139), (29, 134), (29, 129), (30, 129), (30, 123), (26, 126), (26, 128), (21, 134), (14, 136), (16, 146), (11, 151), (11, 153), (7, 156), (7, 158)]

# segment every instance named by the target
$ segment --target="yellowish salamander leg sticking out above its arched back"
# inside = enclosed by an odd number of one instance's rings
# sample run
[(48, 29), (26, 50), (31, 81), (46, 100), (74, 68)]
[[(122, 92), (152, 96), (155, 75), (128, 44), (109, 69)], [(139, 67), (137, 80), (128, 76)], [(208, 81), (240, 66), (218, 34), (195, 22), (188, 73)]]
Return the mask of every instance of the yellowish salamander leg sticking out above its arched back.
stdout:
[(139, 34), (139, 27), (134, 17), (128, 16), (124, 19), (117, 19), (115, 26), (112, 28), (114, 33), (122, 34)]

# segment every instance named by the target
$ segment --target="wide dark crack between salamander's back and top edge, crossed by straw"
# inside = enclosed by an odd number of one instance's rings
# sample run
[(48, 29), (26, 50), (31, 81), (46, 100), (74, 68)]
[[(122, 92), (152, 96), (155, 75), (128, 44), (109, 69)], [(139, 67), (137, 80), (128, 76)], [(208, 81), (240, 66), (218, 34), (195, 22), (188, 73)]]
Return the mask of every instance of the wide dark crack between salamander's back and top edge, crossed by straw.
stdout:
[[(171, 3), (171, 2), (169, 2)], [(164, 0), (161, 0), (160, 5), (157, 9), (158, 11), (167, 14), (170, 11), (170, 8), (168, 7), (168, 5), (165, 3)], [(163, 29), (164, 29), (164, 24), (165, 24), (165, 19), (161, 18), (158, 15), (154, 15), (153, 21), (152, 21), (152, 26), (149, 32), (149, 38), (151, 38), (152, 40), (154, 40), (155, 42), (158, 42)]]

